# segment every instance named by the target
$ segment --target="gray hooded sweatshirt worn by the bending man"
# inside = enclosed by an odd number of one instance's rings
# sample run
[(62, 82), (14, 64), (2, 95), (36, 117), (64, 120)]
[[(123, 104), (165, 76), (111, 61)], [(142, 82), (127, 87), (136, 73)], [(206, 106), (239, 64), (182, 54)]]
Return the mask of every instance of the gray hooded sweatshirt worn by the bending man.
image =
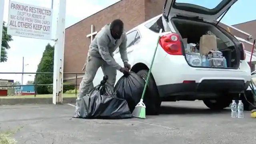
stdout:
[(119, 47), (120, 56), (123, 62), (128, 62), (126, 52), (127, 37), (124, 32), (120, 39), (115, 40), (110, 33), (110, 24), (104, 26), (90, 44), (88, 56), (101, 57), (107, 64), (120, 70), (121, 66), (114, 60), (113, 52)]

